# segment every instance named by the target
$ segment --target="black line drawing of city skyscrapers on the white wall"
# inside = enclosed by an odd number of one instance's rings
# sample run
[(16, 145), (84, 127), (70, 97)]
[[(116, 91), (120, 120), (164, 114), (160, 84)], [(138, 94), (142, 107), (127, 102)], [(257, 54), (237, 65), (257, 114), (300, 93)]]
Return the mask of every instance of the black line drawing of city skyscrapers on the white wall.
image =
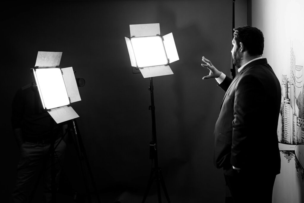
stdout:
[(283, 161), (294, 163), (297, 177), (304, 183), (304, 99), (303, 66), (296, 65), (290, 49), (290, 78), (282, 75), (281, 108), (278, 119), (278, 142)]

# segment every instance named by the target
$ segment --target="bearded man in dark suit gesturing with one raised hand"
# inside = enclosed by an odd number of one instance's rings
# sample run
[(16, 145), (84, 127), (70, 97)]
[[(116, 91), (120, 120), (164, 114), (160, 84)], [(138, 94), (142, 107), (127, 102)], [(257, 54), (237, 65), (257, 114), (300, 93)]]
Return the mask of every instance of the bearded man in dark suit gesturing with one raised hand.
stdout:
[(271, 202), (275, 177), (280, 173), (277, 125), (281, 86), (266, 58), (264, 36), (250, 27), (234, 29), (231, 50), (239, 68), (234, 79), (210, 70), (203, 79), (215, 78), (226, 93), (214, 130), (214, 164), (223, 168), (234, 202)]

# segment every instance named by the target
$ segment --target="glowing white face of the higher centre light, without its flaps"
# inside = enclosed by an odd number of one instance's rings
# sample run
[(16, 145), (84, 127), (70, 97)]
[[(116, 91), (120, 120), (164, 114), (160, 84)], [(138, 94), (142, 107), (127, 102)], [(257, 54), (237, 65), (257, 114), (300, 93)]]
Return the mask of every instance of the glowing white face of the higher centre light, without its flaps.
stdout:
[(131, 38), (137, 67), (167, 65), (168, 58), (161, 36)]

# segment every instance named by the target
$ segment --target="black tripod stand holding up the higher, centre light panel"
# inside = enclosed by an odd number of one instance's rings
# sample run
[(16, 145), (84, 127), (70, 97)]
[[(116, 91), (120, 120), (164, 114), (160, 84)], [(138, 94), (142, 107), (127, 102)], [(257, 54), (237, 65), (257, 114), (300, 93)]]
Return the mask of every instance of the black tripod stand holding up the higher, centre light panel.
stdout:
[(145, 202), (147, 195), (149, 193), (149, 190), (151, 188), (151, 185), (153, 183), (153, 180), (156, 180), (157, 184), (157, 197), (158, 202), (161, 203), (161, 186), (163, 187), (164, 194), (167, 198), (168, 203), (170, 203), (169, 195), (166, 189), (166, 185), (163, 179), (163, 175), (161, 173), (161, 168), (158, 167), (158, 157), (157, 157), (157, 142), (156, 142), (156, 124), (155, 124), (155, 106), (154, 106), (154, 93), (153, 93), (153, 80), (152, 77), (150, 77), (150, 94), (151, 94), (151, 106), (149, 106), (149, 110), (151, 110), (152, 115), (152, 141), (150, 142), (150, 159), (152, 159), (152, 162), (154, 160), (154, 168), (152, 167), (150, 178), (148, 181), (148, 185), (145, 191), (145, 194), (143, 196), (142, 203)]

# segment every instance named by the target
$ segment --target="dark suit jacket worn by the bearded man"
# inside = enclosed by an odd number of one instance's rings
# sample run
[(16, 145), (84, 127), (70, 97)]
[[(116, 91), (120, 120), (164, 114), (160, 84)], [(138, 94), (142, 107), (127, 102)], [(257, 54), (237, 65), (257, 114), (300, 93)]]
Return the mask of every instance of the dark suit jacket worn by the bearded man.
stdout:
[(280, 173), (281, 86), (267, 59), (252, 61), (219, 86), (226, 94), (214, 130), (215, 166)]

